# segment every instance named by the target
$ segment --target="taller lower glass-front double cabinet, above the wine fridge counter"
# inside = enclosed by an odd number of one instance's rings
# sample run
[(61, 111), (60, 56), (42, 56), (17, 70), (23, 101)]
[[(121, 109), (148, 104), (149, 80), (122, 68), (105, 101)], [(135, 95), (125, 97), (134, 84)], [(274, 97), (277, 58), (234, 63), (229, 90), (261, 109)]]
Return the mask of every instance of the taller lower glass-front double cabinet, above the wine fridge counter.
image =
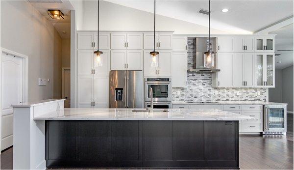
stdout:
[(274, 54), (255, 55), (255, 85), (274, 87)]

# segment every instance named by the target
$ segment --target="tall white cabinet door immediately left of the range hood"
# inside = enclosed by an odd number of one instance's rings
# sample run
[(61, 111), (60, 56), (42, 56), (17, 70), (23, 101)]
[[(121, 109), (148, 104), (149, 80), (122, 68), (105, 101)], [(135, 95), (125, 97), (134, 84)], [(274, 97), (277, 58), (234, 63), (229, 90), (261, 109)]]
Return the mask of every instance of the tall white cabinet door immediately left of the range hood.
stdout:
[(187, 87), (187, 53), (172, 53), (172, 87)]

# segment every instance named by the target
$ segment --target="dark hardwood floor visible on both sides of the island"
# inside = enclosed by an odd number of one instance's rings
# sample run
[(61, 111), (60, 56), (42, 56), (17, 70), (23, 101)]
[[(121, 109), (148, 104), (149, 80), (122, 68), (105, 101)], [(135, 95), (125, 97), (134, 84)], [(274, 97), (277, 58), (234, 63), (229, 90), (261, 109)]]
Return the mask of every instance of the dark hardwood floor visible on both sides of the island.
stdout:
[[(286, 136), (240, 135), (240, 169), (293, 170), (293, 114), (287, 115)], [(13, 148), (1, 153), (0, 169), (12, 169)]]

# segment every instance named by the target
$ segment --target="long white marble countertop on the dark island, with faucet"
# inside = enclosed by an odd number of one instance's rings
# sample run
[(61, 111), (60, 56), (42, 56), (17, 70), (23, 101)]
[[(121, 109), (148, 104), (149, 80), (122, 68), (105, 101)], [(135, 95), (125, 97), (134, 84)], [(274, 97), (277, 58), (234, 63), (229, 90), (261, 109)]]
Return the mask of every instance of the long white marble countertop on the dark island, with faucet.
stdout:
[(154, 109), (149, 112), (132, 112), (145, 109), (81, 109), (57, 110), (34, 117), (35, 120), (256, 120), (250, 116), (216, 109)]

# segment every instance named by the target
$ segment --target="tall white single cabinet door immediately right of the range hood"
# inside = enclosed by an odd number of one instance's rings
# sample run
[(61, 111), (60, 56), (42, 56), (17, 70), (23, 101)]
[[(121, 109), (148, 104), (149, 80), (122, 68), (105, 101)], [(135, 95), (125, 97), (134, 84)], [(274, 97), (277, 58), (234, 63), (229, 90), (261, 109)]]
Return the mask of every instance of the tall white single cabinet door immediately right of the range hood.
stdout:
[(218, 54), (218, 87), (233, 87), (233, 58), (234, 54)]

